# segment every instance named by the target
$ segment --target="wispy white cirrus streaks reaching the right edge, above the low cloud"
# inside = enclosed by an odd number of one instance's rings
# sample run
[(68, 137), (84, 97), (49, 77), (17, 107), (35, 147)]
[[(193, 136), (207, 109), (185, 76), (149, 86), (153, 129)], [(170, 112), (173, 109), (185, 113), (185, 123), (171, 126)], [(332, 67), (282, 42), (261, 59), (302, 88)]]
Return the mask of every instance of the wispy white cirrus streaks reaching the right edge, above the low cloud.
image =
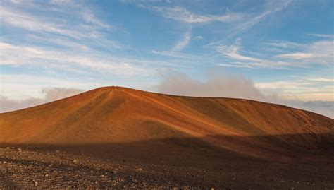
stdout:
[[(266, 47), (275, 47), (276, 52), (266, 57), (246, 56), (242, 54), (241, 38), (237, 38), (233, 44), (225, 45), (222, 42), (212, 42), (206, 47), (213, 48), (221, 56), (227, 57), (232, 61), (228, 63), (218, 63), (221, 66), (230, 67), (264, 67), (289, 69), (307, 67), (315, 64), (330, 66), (333, 64), (333, 41), (317, 41), (311, 44), (298, 44), (296, 42), (271, 41), (264, 43)], [(282, 52), (287, 52), (283, 53)], [(262, 53), (264, 54), (264, 53)], [(296, 62), (298, 60), (298, 62)]]

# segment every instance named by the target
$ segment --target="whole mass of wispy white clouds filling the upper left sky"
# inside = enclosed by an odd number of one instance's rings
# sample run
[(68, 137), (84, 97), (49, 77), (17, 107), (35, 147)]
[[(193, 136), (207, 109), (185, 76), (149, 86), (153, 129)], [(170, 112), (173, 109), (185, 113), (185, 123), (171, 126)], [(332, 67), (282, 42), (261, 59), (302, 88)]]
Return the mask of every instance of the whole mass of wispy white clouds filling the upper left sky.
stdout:
[[(123, 45), (104, 34), (103, 29), (113, 29), (112, 25), (99, 20), (92, 10), (77, 1), (51, 1), (47, 11), (53, 12), (56, 8), (55, 14), (58, 16), (61, 11), (60, 17), (49, 16), (48, 13), (40, 17), (23, 6), (9, 2), (0, 6), (1, 27), (25, 31), (25, 40), (30, 42), (30, 45), (26, 45), (8, 42), (11, 40), (6, 38), (0, 40), (1, 65), (61, 69), (74, 73), (87, 73), (89, 70), (91, 73), (113, 73), (115, 76), (131, 76), (134, 73), (146, 75), (152, 71), (135, 59), (116, 57), (101, 51), (101, 47), (109, 50), (123, 48)], [(45, 11), (40, 8), (37, 6), (35, 9)], [(68, 22), (63, 16), (74, 17), (80, 22)]]

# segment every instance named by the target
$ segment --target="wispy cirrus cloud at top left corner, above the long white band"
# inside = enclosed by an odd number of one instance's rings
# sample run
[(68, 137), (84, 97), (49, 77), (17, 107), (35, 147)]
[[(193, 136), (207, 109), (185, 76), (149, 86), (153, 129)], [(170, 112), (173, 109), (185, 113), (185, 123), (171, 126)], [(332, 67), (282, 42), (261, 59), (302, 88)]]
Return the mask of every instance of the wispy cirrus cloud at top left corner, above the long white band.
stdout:
[[(89, 8), (75, 4), (73, 1), (56, 1), (53, 4), (54, 6), (49, 7), (49, 12), (61, 11), (63, 16), (74, 16), (81, 22), (68, 23), (68, 20), (62, 17), (36, 16), (31, 12), (23, 11), (24, 4), (16, 6), (10, 6), (10, 4), (1, 5), (0, 22), (3, 26), (49, 35), (49, 39), (53, 39), (55, 36), (67, 37), (68, 42), (70, 40), (80, 40), (81, 42), (90, 42), (90, 44), (99, 44), (109, 48), (123, 47), (119, 42), (108, 39), (102, 30), (111, 30), (114, 27), (99, 20)], [(54, 9), (58, 6), (65, 6), (66, 8)], [(46, 11), (42, 7), (36, 9)]]

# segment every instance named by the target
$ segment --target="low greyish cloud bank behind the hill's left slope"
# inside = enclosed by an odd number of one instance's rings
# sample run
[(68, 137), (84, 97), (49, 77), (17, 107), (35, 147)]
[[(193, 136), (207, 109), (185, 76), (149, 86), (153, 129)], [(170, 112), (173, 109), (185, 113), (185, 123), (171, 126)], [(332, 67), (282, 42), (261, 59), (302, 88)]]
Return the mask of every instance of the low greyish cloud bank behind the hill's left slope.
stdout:
[(0, 96), (0, 112), (11, 112), (17, 109), (24, 109), (46, 102), (52, 102), (65, 97), (82, 93), (84, 90), (78, 88), (43, 88), (42, 98), (30, 97), (25, 100), (11, 100), (8, 97)]

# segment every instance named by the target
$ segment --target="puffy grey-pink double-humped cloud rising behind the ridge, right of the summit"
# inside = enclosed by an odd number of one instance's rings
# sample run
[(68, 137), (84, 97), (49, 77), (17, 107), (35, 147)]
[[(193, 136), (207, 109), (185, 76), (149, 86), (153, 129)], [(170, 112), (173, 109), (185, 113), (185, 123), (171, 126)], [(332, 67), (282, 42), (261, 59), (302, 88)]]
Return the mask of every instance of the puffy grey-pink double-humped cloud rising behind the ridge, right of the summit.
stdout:
[(157, 90), (172, 95), (264, 99), (264, 95), (249, 79), (242, 76), (222, 76), (218, 73), (210, 73), (208, 80), (204, 82), (173, 73), (164, 76)]

